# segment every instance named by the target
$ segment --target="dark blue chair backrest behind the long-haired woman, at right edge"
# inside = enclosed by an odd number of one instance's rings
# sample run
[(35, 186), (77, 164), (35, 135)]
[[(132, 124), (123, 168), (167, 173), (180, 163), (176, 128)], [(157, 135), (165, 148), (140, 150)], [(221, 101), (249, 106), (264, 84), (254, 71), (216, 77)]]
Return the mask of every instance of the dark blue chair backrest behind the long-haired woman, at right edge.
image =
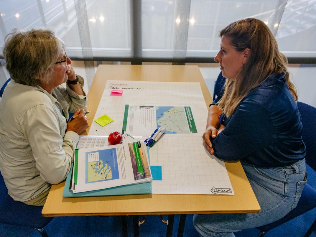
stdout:
[(306, 145), (306, 163), (316, 171), (316, 108), (297, 102), (302, 117), (302, 138)]

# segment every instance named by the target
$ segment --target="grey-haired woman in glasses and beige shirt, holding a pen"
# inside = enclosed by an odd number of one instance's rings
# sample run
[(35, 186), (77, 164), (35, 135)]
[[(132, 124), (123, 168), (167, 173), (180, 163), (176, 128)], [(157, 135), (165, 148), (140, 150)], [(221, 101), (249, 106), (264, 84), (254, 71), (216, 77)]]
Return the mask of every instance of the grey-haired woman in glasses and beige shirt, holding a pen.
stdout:
[[(0, 100), (1, 174), (14, 200), (44, 205), (51, 184), (69, 173), (78, 134), (88, 126), (83, 78), (50, 30), (14, 30), (3, 54), (12, 81)], [(68, 111), (78, 117), (67, 123)]]

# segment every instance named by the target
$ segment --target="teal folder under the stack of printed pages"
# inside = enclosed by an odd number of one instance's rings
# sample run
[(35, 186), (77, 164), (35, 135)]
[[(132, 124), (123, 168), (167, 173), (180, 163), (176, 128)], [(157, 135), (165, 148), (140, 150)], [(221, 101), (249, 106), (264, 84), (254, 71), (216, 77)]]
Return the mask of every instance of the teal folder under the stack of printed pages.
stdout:
[[(148, 158), (149, 158), (149, 149), (148, 151)], [(93, 197), (93, 196), (114, 196), (114, 195), (132, 195), (132, 194), (148, 194), (152, 193), (152, 186), (151, 182), (148, 183), (141, 183), (141, 184), (131, 184), (131, 185), (124, 185), (119, 187), (113, 188), (106, 188), (94, 191), (87, 191), (87, 192), (78, 192), (73, 193), (69, 190), (71, 175), (72, 175), (73, 164), (71, 164), (71, 169), (69, 174), (66, 178), (66, 183), (64, 186), (63, 197)]]

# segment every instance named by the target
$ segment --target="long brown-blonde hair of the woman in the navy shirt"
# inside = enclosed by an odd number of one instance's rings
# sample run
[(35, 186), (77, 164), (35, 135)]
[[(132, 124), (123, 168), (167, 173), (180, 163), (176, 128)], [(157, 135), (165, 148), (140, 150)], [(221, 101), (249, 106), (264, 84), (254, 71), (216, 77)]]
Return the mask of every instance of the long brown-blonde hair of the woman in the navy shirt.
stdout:
[(285, 82), (294, 99), (298, 99), (289, 79), (287, 58), (279, 51), (276, 39), (263, 21), (255, 18), (238, 20), (222, 29), (219, 35), (228, 37), (237, 51), (250, 49), (250, 56), (235, 80), (226, 80), (222, 99), (217, 104), (226, 116), (234, 114), (240, 101), (274, 73), (285, 72)]

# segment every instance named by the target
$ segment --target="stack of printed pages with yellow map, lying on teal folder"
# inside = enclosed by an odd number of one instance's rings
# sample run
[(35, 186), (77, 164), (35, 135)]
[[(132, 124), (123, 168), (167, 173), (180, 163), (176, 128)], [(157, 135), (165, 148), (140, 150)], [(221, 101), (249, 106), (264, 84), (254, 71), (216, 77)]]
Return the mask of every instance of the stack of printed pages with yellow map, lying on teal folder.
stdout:
[(77, 149), (73, 193), (151, 182), (149, 159), (143, 141)]

